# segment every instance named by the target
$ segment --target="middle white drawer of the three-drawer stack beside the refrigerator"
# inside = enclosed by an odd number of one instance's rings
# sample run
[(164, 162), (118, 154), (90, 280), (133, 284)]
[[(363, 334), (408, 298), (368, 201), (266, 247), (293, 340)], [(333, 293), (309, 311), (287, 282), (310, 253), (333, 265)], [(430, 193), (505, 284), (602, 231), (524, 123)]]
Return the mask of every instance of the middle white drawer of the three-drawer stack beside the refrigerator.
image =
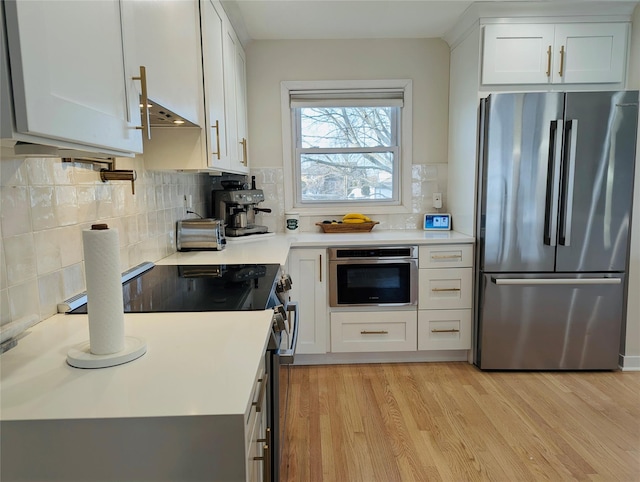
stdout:
[(471, 308), (472, 269), (444, 268), (418, 270), (418, 308), (452, 310)]

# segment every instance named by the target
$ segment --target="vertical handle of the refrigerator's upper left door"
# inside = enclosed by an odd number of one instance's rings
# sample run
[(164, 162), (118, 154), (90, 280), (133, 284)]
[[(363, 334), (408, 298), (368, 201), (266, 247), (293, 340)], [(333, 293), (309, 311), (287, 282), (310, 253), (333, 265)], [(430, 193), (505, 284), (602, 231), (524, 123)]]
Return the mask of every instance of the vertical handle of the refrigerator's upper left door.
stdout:
[(551, 121), (547, 201), (545, 206), (544, 244), (556, 246), (558, 239), (558, 204), (560, 202), (560, 165), (562, 161), (562, 119)]

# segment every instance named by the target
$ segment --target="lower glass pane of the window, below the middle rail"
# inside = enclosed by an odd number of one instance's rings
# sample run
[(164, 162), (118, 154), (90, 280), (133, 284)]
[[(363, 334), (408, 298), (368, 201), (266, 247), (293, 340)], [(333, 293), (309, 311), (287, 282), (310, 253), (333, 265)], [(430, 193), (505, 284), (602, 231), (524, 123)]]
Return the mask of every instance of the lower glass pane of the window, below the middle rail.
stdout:
[(300, 155), (301, 200), (392, 200), (394, 153)]

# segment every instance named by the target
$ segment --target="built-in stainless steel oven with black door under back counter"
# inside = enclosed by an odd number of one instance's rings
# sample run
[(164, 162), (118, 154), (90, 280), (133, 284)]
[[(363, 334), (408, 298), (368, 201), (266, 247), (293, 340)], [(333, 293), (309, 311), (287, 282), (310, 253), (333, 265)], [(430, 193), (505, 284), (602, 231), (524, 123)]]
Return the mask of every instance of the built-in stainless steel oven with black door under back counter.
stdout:
[(329, 248), (330, 306), (417, 304), (417, 246)]

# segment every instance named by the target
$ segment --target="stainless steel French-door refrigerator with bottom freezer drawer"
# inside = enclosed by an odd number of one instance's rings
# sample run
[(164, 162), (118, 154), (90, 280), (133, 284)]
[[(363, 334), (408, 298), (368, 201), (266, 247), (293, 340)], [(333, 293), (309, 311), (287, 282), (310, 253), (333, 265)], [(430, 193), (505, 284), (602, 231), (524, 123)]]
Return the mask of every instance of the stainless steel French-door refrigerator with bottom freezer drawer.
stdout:
[(637, 123), (637, 91), (481, 102), (481, 369), (618, 367)]

